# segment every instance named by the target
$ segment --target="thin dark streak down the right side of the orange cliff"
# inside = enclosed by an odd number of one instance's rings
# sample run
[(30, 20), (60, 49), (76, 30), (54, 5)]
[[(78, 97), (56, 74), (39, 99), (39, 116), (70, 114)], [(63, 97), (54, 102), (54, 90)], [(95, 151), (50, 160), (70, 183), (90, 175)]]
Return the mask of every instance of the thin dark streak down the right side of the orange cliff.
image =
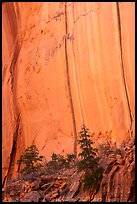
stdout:
[(127, 103), (128, 103), (129, 116), (130, 116), (130, 121), (131, 121), (130, 130), (132, 130), (133, 115), (132, 115), (132, 111), (131, 111), (131, 107), (130, 107), (128, 87), (127, 87), (127, 84), (126, 84), (126, 74), (125, 74), (124, 63), (123, 63), (121, 19), (120, 19), (120, 8), (119, 8), (119, 3), (118, 3), (118, 2), (116, 2), (116, 8), (117, 8), (117, 18), (118, 18), (118, 31), (119, 31), (119, 43), (120, 43), (120, 55), (121, 55), (122, 75), (123, 75), (123, 82), (124, 82), (124, 87), (125, 87), (125, 93), (126, 93)]

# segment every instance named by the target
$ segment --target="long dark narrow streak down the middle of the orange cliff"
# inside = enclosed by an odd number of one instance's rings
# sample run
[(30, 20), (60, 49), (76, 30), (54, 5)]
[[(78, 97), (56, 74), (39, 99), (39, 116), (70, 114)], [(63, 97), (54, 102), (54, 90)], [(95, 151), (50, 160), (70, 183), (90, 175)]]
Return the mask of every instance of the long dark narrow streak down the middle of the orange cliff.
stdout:
[[(66, 30), (66, 36), (67, 36), (67, 33), (68, 33), (67, 2), (65, 2), (65, 30)], [(77, 156), (77, 128), (76, 128), (74, 106), (73, 106), (72, 93), (71, 93), (71, 87), (70, 87), (69, 63), (68, 63), (68, 53), (67, 53), (67, 38), (65, 38), (65, 58), (66, 58), (68, 93), (69, 93), (70, 106), (71, 106), (71, 111), (72, 111), (72, 121), (73, 121), (73, 130), (74, 130), (74, 154)]]

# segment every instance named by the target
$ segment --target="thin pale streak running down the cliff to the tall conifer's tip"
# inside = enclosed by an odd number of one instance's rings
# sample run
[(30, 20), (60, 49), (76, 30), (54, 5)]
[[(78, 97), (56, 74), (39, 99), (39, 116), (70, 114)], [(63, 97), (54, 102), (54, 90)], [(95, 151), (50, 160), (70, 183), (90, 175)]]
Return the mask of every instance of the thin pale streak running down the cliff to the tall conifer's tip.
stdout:
[[(74, 37), (74, 3), (72, 4), (73, 6), (73, 37)], [(81, 104), (81, 98), (80, 98), (80, 91), (79, 91), (79, 84), (78, 84), (78, 72), (77, 72), (77, 64), (76, 64), (76, 56), (75, 56), (75, 51), (74, 51), (74, 39), (72, 39), (72, 54), (73, 54), (73, 60), (74, 60), (74, 77), (75, 77), (75, 86), (76, 86), (76, 92), (77, 92), (77, 97), (78, 97), (78, 103), (79, 103), (79, 109), (80, 109), (80, 115), (81, 115), (81, 119), (82, 122), (85, 123), (84, 120), (84, 114), (83, 114), (83, 110), (82, 110), (82, 104)]]

